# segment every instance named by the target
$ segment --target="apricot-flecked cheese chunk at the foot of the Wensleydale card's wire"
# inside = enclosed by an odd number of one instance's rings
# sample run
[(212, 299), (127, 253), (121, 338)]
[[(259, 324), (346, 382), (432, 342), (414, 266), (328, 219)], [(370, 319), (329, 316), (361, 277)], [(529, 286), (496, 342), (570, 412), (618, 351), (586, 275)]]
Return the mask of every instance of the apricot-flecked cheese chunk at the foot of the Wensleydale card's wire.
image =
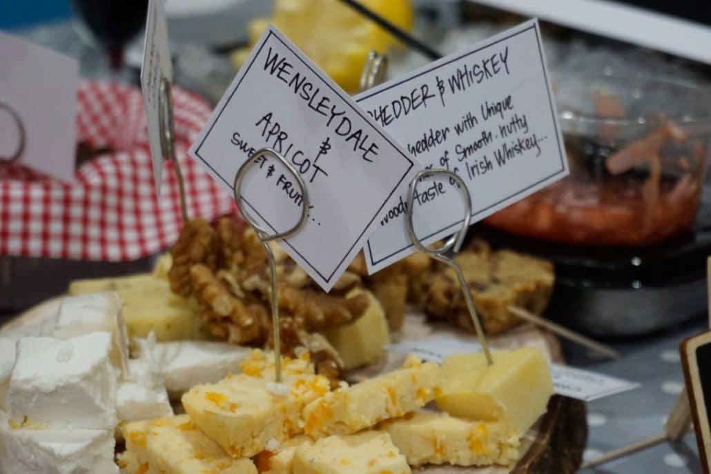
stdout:
[(195, 424), (233, 458), (251, 457), (267, 444), (302, 433), (301, 411), (328, 392), (320, 375), (284, 376), (276, 384), (247, 375), (228, 376), (183, 395), (183, 406)]

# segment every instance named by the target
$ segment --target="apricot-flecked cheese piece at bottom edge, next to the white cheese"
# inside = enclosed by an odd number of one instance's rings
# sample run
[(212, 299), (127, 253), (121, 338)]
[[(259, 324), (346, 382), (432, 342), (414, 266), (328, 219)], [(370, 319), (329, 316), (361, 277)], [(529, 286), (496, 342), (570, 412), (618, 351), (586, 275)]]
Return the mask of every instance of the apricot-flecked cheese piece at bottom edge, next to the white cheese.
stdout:
[(123, 433), (128, 454), (119, 464), (129, 474), (257, 473), (252, 460), (227, 456), (186, 415), (134, 421)]

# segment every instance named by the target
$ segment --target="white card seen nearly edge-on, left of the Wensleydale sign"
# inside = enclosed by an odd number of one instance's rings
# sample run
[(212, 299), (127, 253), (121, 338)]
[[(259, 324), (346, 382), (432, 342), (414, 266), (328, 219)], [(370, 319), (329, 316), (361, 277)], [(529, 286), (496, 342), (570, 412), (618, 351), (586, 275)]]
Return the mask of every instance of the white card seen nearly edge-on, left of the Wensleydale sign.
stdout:
[(168, 42), (168, 25), (163, 6), (164, 0), (149, 0), (146, 18), (146, 40), (141, 66), (141, 90), (146, 107), (148, 141), (151, 146), (153, 177), (156, 193), (161, 195), (164, 149), (161, 144), (161, 82), (173, 80), (173, 65)]

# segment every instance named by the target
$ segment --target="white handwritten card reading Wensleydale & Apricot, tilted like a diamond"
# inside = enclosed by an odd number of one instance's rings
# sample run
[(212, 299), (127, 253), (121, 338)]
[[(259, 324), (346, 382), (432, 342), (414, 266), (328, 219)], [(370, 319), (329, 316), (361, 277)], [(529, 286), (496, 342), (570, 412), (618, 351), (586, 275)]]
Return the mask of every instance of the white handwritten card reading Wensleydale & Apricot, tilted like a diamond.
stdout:
[[(232, 193), (237, 170), (265, 146), (294, 166), (309, 196), (306, 225), (282, 245), (326, 291), (422, 169), (274, 26), (252, 50), (190, 153)], [(241, 197), (274, 233), (290, 229), (301, 215), (299, 185), (274, 158), (250, 168)]]

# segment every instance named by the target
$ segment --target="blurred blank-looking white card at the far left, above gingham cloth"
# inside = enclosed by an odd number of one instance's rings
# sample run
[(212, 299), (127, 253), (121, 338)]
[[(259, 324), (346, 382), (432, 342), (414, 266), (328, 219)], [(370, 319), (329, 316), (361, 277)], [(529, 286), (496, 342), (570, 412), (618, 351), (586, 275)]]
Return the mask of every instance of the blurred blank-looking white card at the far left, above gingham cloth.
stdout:
[(72, 183), (77, 85), (77, 60), (0, 32), (0, 158)]

